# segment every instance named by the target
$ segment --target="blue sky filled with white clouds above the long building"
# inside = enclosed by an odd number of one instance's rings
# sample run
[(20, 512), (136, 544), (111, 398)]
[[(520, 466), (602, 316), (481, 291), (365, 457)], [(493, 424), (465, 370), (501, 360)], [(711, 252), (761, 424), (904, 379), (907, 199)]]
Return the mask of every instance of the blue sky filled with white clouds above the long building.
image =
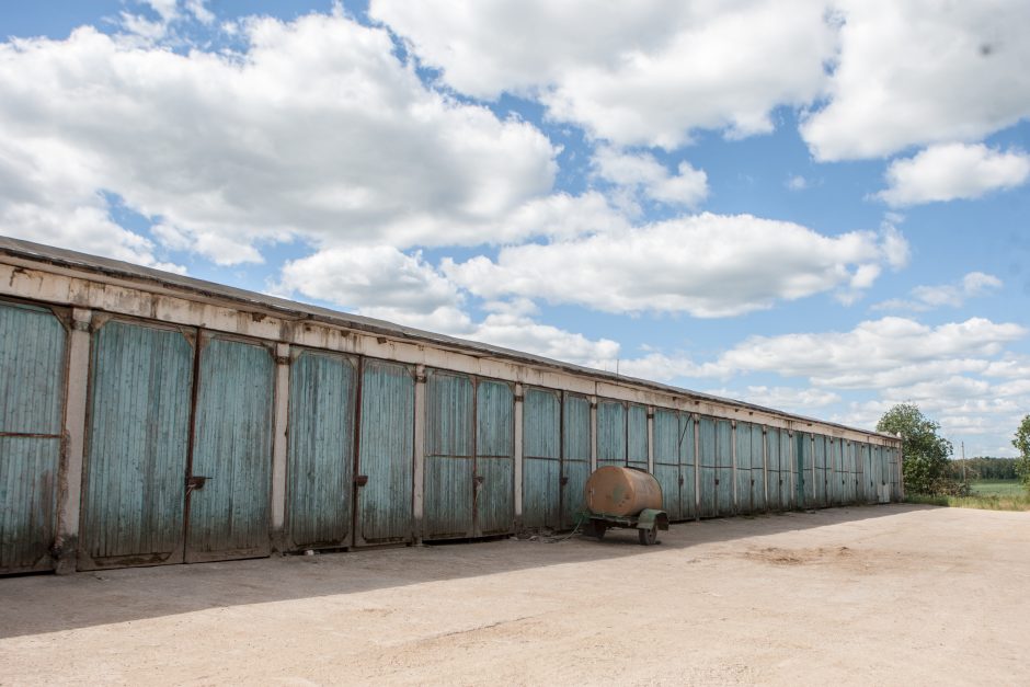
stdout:
[(0, 234), (873, 428), (1030, 413), (1026, 0), (0, 4)]

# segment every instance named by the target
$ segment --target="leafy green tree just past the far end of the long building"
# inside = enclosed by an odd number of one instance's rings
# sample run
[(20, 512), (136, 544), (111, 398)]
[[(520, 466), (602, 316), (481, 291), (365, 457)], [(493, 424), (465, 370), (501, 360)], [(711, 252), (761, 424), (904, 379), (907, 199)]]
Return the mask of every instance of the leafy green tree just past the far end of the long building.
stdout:
[(951, 442), (938, 436), (940, 424), (926, 417), (914, 403), (899, 403), (883, 414), (877, 432), (900, 434), (905, 490), (913, 494), (945, 494), (957, 489), (948, 457)]

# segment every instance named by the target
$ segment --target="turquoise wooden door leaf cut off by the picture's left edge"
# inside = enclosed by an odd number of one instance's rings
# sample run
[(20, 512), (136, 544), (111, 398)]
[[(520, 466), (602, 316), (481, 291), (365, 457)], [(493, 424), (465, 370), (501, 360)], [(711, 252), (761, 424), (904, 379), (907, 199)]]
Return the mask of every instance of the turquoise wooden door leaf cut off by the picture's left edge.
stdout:
[(48, 570), (57, 527), (65, 328), (0, 302), (0, 572)]

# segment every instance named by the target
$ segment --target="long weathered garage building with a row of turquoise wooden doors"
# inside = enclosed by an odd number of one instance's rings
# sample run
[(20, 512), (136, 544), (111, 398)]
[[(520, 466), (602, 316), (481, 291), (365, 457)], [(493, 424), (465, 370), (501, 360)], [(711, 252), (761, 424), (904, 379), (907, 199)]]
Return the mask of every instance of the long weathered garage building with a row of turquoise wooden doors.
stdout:
[(0, 573), (902, 499), (900, 442), (0, 238)]

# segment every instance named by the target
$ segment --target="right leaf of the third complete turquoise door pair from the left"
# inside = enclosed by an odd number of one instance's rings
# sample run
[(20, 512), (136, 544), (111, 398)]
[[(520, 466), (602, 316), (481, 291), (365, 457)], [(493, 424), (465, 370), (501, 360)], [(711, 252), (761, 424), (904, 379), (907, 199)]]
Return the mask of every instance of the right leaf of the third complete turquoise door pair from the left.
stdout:
[(515, 394), (511, 385), (476, 385), (476, 536), (515, 528)]

